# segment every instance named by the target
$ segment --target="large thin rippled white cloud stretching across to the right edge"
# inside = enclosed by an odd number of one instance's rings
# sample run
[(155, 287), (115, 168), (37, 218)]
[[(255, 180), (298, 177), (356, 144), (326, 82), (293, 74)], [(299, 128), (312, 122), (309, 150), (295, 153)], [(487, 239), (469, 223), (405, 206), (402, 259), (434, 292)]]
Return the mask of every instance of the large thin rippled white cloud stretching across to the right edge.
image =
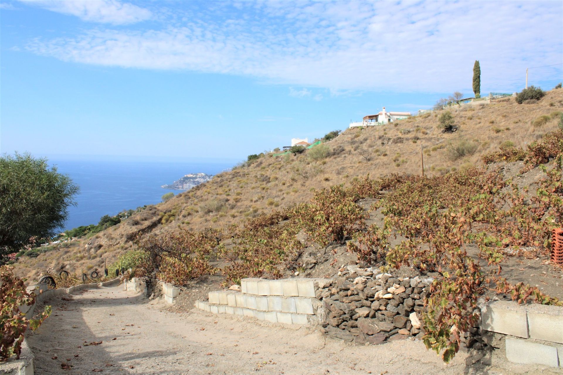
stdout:
[[(523, 84), (526, 67), (560, 62), (563, 53), (561, 2), (241, 2), (236, 8), (215, 2), (203, 10), (193, 7), (184, 12), (160, 8), (161, 28), (92, 29), (74, 37), (35, 39), (27, 48), (64, 61), (252, 76), (328, 88), (331, 95), (471, 92), (475, 60), (481, 64), (482, 90), (510, 91)], [(560, 72), (561, 65), (545, 74)], [(305, 88), (289, 94), (321, 98)]]

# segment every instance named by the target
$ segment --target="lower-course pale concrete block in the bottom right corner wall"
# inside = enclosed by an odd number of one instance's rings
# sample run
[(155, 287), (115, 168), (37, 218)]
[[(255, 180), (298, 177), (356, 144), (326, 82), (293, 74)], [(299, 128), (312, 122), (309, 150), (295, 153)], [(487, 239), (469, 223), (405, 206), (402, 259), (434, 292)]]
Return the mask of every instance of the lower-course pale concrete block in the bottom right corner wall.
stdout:
[(557, 348), (518, 338), (506, 338), (506, 359), (513, 363), (543, 364), (557, 367)]

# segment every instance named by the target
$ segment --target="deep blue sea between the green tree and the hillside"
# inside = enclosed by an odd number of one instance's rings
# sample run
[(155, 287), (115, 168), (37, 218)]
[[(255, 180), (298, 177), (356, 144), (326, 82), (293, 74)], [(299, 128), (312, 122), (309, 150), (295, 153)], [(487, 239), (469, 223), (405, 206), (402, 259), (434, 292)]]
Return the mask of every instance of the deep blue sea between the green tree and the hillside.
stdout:
[(67, 174), (80, 192), (74, 197), (69, 215), (61, 231), (80, 225), (97, 224), (104, 215), (138, 206), (157, 204), (167, 192), (164, 189), (189, 173), (215, 175), (233, 167), (234, 162), (112, 161), (49, 159), (57, 171)]

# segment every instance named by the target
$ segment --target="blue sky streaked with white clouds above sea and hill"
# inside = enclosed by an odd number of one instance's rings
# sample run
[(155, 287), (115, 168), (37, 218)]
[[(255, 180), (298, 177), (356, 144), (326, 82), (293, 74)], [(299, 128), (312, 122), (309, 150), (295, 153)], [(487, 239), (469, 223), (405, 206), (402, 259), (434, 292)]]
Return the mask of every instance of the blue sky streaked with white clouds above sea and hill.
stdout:
[(563, 2), (2, 1), (0, 152), (242, 160), (563, 80)]

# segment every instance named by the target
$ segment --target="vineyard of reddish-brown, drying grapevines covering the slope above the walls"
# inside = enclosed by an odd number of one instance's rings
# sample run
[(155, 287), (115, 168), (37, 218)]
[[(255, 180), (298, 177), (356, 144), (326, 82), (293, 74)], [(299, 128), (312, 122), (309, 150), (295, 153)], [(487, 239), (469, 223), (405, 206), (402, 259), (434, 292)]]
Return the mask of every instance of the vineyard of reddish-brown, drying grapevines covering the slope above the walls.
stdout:
[[(461, 333), (477, 320), (477, 299), (490, 292), (506, 293), (520, 303), (563, 305), (555, 297), (502, 276), (506, 256), (546, 257), (552, 229), (561, 226), (563, 187), (561, 162), (563, 133), (546, 134), (542, 141), (520, 150), (522, 172), (543, 172), (531, 194), (494, 168), (470, 168), (440, 177), (392, 175), (358, 180), (350, 187), (333, 186), (316, 192), (309, 204), (273, 211), (248, 220), (229, 232), (183, 231), (139, 242), (144, 251), (134, 273), (175, 284), (187, 284), (205, 274), (218, 273), (225, 285), (244, 277), (280, 278), (303, 248), (297, 240), (305, 233), (309, 243), (323, 247), (347, 243), (358, 260), (384, 270), (410, 266), (420, 274), (438, 273), (425, 301), (425, 344), (443, 353), (446, 362), (457, 353)], [(503, 160), (504, 156), (484, 159)], [(385, 215), (382, 227), (366, 227), (367, 214), (357, 204), (377, 198), (372, 210)], [(225, 246), (221, 238), (233, 240)], [(403, 236), (399, 245), (390, 238)], [(467, 245), (479, 249), (468, 254)], [(210, 260), (224, 266), (214, 268)], [(495, 266), (494, 272), (482, 265)]]

